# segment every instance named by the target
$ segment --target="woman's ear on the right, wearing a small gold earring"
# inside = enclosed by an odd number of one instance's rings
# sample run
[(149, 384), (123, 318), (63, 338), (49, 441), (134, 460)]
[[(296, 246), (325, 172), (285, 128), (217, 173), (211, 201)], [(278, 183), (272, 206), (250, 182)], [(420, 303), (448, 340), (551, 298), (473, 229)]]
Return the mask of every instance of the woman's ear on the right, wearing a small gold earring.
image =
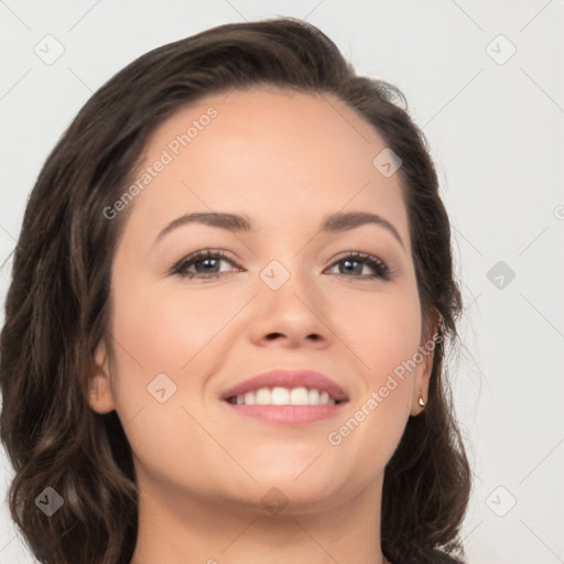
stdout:
[(425, 324), (422, 330), (421, 343), (417, 348), (417, 354), (414, 359), (417, 361), (417, 367), (413, 373), (413, 395), (411, 400), (411, 415), (419, 415), (425, 410), (425, 406), (420, 405), (420, 400), (426, 404), (429, 399), (429, 382), (433, 371), (433, 359), (435, 358), (435, 347), (440, 340), (437, 335), (438, 326), (441, 323), (441, 314), (433, 307), (431, 318)]

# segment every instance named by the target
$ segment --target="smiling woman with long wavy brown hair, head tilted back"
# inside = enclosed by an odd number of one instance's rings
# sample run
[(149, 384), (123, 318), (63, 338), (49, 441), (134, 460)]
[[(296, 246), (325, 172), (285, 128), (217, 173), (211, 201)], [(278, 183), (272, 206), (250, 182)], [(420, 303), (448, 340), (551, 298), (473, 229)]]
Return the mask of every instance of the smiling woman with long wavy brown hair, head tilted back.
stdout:
[(293, 19), (156, 48), (28, 202), (1, 334), (45, 563), (457, 562), (460, 295), (422, 132)]

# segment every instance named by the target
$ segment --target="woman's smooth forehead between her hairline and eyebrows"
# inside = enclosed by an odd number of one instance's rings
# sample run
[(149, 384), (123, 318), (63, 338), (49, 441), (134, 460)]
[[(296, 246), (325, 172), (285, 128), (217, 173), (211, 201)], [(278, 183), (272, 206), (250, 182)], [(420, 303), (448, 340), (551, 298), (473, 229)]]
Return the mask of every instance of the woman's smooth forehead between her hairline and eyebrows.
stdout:
[(210, 95), (151, 137), (141, 170), (165, 165), (137, 198), (133, 216), (165, 223), (171, 214), (214, 209), (256, 215), (260, 226), (372, 210), (401, 230), (399, 175), (386, 177), (373, 164), (384, 149), (368, 121), (326, 93), (256, 87)]

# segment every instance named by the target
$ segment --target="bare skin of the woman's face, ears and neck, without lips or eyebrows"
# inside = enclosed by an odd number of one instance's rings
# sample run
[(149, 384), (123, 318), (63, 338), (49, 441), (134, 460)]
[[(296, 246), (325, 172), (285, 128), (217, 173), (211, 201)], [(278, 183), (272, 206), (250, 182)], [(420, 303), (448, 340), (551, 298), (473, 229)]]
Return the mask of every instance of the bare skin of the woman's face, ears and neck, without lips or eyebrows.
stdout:
[[(132, 562), (380, 564), (383, 470), (422, 411), (432, 354), (339, 445), (327, 436), (426, 339), (399, 175), (372, 165), (386, 145), (344, 102), (267, 87), (182, 109), (153, 134), (143, 166), (210, 106), (217, 117), (129, 204), (112, 263), (111, 337), (90, 379), (91, 408), (117, 411), (134, 453)], [(178, 216), (212, 210), (242, 214), (254, 228), (187, 224), (154, 243)], [(335, 212), (380, 215), (403, 247), (373, 224), (317, 234)], [(230, 256), (216, 261), (219, 278), (167, 273), (207, 247)], [(379, 257), (391, 280), (368, 279), (365, 262), (347, 272), (346, 251)], [(272, 260), (291, 274), (275, 291), (259, 275)], [(273, 368), (317, 370), (350, 401), (338, 416), (281, 427), (219, 400)], [(176, 386), (164, 403), (148, 392), (161, 372)], [(273, 487), (288, 501), (275, 514), (261, 501)]]

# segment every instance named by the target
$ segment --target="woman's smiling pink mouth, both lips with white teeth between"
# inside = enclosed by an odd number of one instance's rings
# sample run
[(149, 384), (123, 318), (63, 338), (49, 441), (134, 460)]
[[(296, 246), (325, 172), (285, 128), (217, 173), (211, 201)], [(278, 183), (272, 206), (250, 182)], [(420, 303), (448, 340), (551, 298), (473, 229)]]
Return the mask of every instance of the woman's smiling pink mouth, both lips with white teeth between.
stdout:
[(275, 423), (308, 423), (334, 415), (348, 397), (336, 382), (310, 370), (272, 370), (221, 394), (239, 413)]

